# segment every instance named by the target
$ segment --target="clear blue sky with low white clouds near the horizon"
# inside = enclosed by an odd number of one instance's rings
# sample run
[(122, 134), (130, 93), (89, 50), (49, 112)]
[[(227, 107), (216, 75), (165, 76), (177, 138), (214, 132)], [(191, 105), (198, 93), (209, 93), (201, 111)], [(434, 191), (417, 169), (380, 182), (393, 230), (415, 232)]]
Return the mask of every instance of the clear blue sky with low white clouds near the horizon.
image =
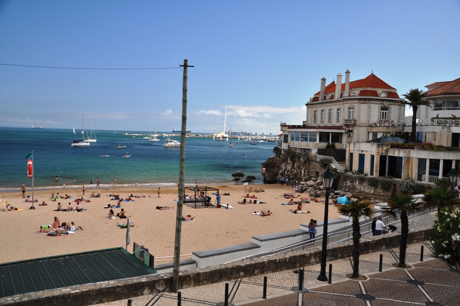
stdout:
[[(0, 63), (170, 68), (187, 58), (187, 129), (277, 133), (349, 69), (399, 95), (460, 77), (460, 1), (5, 1)], [(180, 129), (182, 71), (0, 65), (0, 126)], [(406, 116), (411, 115), (406, 111)]]

